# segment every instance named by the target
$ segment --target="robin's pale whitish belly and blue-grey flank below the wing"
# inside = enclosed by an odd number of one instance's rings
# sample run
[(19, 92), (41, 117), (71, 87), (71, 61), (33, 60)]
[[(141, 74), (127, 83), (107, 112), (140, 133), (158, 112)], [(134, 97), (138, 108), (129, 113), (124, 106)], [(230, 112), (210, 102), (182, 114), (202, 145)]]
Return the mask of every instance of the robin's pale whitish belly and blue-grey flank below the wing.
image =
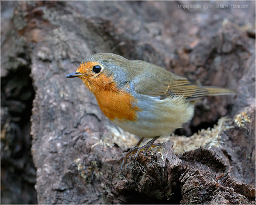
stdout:
[(123, 130), (140, 137), (167, 136), (188, 122), (194, 115), (194, 105), (181, 96), (160, 100), (138, 94), (136, 121), (112, 120)]

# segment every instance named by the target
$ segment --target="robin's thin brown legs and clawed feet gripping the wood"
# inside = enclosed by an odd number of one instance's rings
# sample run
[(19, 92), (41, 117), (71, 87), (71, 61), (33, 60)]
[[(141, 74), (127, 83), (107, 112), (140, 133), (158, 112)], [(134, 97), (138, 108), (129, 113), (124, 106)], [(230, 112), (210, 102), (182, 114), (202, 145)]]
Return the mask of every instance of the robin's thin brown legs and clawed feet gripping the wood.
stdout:
[[(150, 140), (146, 145), (144, 145), (144, 146), (142, 146), (142, 147), (139, 147), (139, 146), (140, 146), (140, 143), (144, 140), (144, 137), (142, 137), (142, 138), (140, 139), (140, 141), (136, 144), (136, 146), (135, 146), (133, 149), (130, 149), (130, 151), (129, 151), (124, 157), (122, 157), (122, 158), (123, 158), (123, 161), (122, 161), (122, 165), (121, 165), (121, 171), (123, 172), (123, 166), (124, 166), (124, 164), (125, 164), (125, 162), (126, 162), (126, 158), (127, 158), (130, 154), (133, 154), (133, 153), (135, 153), (135, 151), (136, 151), (136, 154), (135, 154), (135, 156), (134, 156), (134, 160), (137, 160), (137, 158), (138, 158), (140, 152), (143, 151), (143, 152), (144, 152), (144, 156), (146, 157), (146, 154), (147, 154), (148, 149), (149, 149), (150, 147), (155, 147), (155, 146), (159, 145), (159, 144), (153, 145), (153, 143), (154, 143), (159, 137), (160, 137), (160, 136), (154, 137), (154, 138), (153, 138), (152, 140)], [(122, 159), (122, 158), (121, 158), (121, 159)]]

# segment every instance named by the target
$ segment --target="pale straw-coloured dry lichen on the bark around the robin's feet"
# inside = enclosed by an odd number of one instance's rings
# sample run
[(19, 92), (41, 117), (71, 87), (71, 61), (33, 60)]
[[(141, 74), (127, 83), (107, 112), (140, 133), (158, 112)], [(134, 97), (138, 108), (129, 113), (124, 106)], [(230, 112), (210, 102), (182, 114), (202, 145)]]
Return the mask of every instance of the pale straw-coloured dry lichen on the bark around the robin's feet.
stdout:
[[(246, 112), (244, 115), (246, 116)], [(248, 117), (247, 117), (248, 118)], [(167, 140), (172, 140), (173, 142), (173, 151), (176, 155), (182, 154), (186, 151), (195, 150), (200, 147), (211, 148), (211, 147), (221, 147), (221, 132), (233, 126), (227, 124), (228, 119), (223, 117), (220, 118), (217, 125), (214, 127), (208, 128), (206, 130), (199, 130), (198, 133), (194, 133), (190, 137), (178, 136), (172, 134), (169, 137), (163, 137), (156, 140), (156, 143), (163, 143)], [(117, 144), (119, 147), (128, 148), (134, 147), (140, 138), (135, 135), (125, 132), (120, 128), (108, 127), (109, 133), (102, 137), (102, 139), (92, 147), (96, 145), (101, 145), (104, 147), (113, 147), (114, 144)], [(148, 140), (144, 140), (141, 145), (146, 144)], [(161, 151), (159, 151), (160, 153)]]

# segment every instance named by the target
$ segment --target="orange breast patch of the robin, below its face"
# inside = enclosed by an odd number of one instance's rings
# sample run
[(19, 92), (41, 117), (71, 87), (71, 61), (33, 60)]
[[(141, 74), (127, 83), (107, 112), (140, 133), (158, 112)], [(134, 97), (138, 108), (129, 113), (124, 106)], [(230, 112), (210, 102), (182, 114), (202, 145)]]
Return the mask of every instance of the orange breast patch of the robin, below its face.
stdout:
[(136, 99), (123, 91), (102, 90), (94, 93), (100, 109), (108, 119), (136, 121), (139, 107), (132, 105)]

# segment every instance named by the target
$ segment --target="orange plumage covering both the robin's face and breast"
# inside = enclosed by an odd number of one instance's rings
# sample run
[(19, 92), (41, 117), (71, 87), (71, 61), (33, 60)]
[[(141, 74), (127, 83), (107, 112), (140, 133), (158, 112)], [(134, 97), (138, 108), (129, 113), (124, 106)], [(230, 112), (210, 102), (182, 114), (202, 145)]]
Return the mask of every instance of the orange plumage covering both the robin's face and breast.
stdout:
[(140, 109), (134, 106), (136, 99), (125, 91), (118, 89), (112, 76), (106, 76), (103, 65), (98, 62), (87, 61), (82, 63), (76, 72), (81, 73), (79, 78), (85, 86), (95, 95), (102, 112), (108, 119), (135, 121), (136, 111)]

